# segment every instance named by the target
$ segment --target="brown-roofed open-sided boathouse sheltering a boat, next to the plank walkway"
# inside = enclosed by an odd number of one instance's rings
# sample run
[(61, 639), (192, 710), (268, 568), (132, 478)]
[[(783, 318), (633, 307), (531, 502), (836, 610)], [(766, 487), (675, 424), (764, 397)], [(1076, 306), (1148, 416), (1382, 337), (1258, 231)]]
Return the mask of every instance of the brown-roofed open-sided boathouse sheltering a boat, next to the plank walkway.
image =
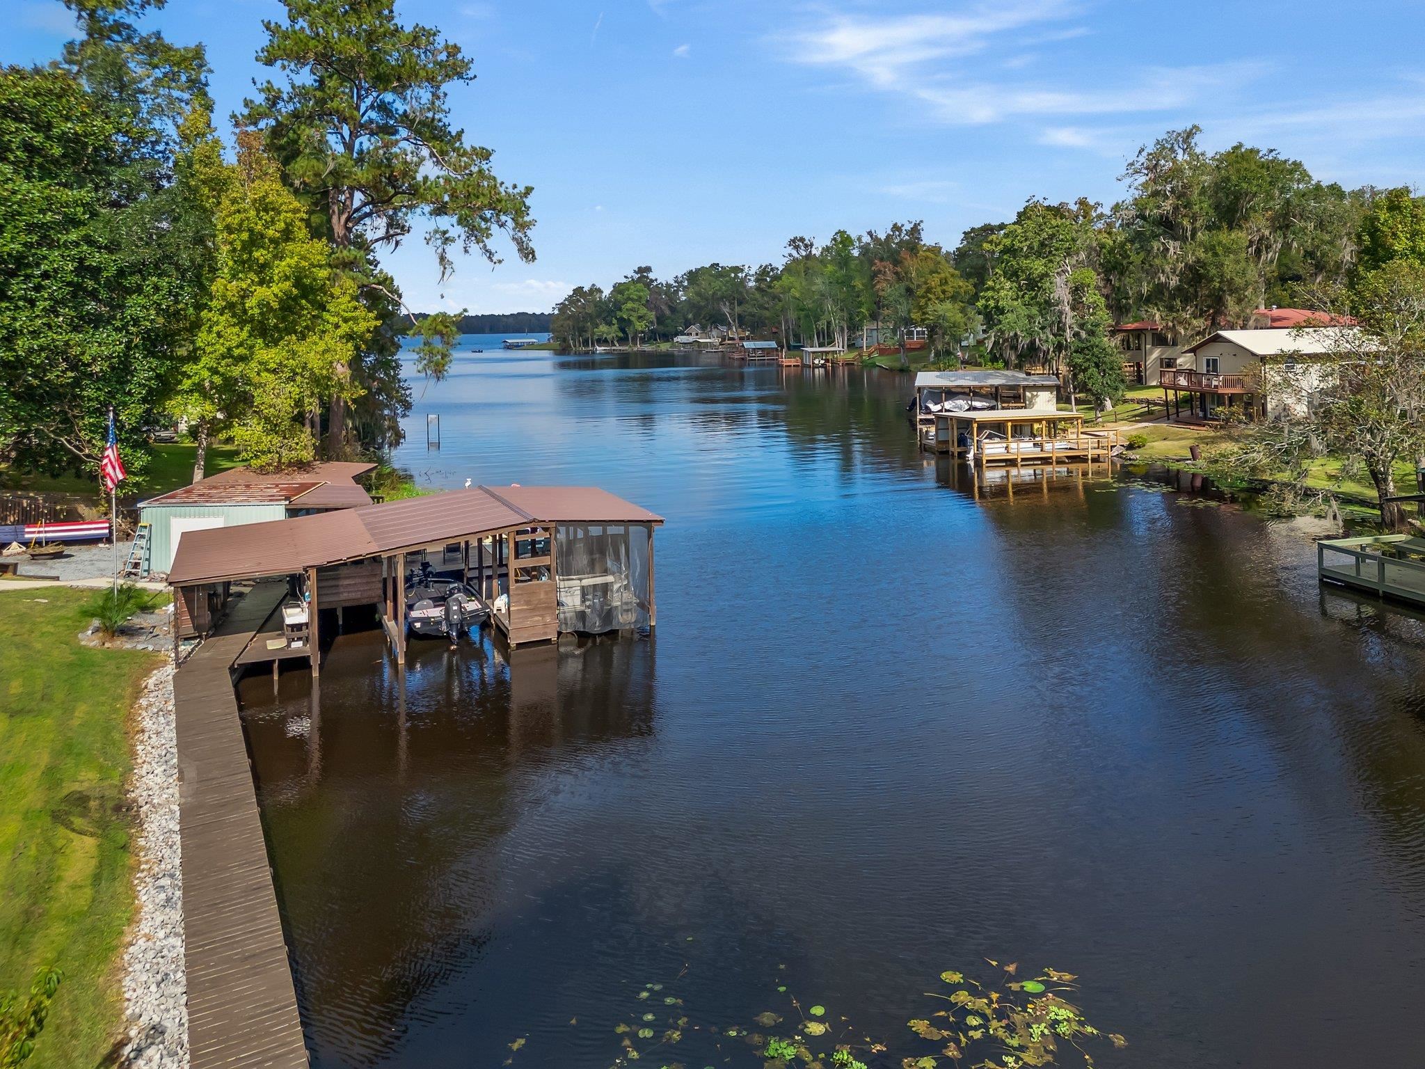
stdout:
[[(281, 576), (309, 607), (304, 649), (314, 670), (321, 610), (365, 604), (376, 606), (403, 663), (406, 576), (420, 564), (470, 586), (513, 646), (651, 627), (653, 534), (661, 525), (661, 516), (594, 487), (477, 486), (195, 530), (168, 573), (177, 634), (204, 634), (231, 583)], [(281, 623), (271, 620), (254, 641), (276, 651), (282, 644), (266, 633), (279, 633)]]

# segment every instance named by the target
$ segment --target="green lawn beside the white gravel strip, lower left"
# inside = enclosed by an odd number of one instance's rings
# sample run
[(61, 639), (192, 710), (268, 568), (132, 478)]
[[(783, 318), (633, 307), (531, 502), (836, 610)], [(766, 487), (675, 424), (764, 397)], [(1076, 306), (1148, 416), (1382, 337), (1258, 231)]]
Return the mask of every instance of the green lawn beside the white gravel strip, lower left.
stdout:
[(93, 596), (0, 592), (0, 988), (66, 974), (26, 1069), (90, 1069), (123, 1022), (127, 718), (161, 657), (80, 646)]

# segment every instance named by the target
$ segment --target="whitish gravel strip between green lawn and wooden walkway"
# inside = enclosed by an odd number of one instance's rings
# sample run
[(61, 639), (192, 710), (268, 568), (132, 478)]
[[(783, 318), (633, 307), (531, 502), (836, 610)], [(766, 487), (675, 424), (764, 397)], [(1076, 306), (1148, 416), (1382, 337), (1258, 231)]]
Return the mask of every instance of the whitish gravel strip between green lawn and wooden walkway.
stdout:
[(184, 975), (182, 874), (178, 864), (178, 743), (174, 668), (154, 671), (135, 707), (134, 778), (138, 820), (138, 924), (124, 951), (128, 1015), (125, 1062), (187, 1069), (188, 985)]

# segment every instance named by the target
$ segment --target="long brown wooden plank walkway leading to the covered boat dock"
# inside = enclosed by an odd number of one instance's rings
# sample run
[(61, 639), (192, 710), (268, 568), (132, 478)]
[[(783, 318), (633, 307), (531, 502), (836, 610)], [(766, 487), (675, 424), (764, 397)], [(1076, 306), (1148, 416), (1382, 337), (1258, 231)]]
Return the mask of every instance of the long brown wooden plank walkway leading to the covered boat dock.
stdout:
[(258, 584), (174, 676), (192, 1069), (305, 1069), (231, 667), (285, 593)]

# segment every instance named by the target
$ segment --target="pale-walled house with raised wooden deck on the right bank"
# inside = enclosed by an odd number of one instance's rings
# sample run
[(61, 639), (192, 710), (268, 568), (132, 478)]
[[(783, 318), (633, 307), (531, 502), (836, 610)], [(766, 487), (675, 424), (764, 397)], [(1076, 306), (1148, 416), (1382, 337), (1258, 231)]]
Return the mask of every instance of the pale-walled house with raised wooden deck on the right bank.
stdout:
[[(1248, 331), (1217, 331), (1183, 349), (1188, 363), (1163, 371), (1159, 385), (1163, 399), (1171, 393), (1171, 416), (1220, 418), (1240, 408), (1248, 419), (1288, 415), (1310, 392), (1315, 363), (1347, 345), (1354, 326), (1271, 326)], [(1301, 359), (1307, 358), (1307, 359)], [(1311, 359), (1318, 358), (1318, 359)], [(1284, 389), (1287, 381), (1292, 388)]]

